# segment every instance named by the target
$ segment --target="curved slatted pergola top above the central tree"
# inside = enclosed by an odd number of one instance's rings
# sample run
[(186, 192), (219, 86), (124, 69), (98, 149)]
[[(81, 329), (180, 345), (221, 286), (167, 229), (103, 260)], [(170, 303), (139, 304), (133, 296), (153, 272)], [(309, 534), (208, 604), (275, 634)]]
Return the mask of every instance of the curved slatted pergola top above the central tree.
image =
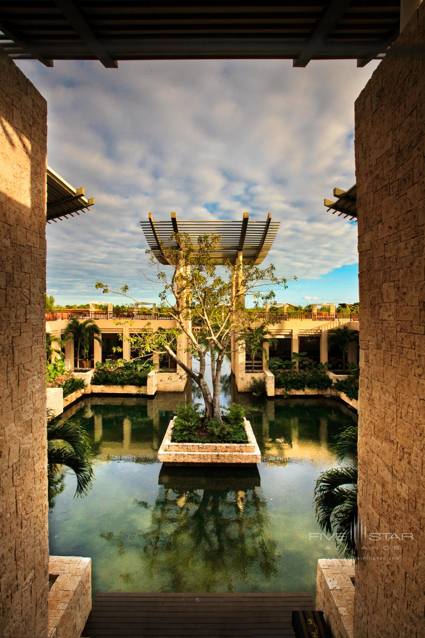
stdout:
[[(163, 249), (175, 248), (175, 239), (170, 240), (173, 232), (187, 234), (194, 246), (200, 235), (220, 235), (217, 250), (212, 255), (215, 263), (236, 262), (238, 253), (242, 253), (245, 262), (259, 264), (273, 244), (280, 221), (271, 221), (269, 212), (266, 221), (249, 221), (249, 214), (243, 213), (242, 221), (186, 221), (177, 220), (175, 212), (169, 221), (155, 221), (149, 213), (148, 221), (141, 221), (146, 241), (159, 263), (169, 263)], [(165, 251), (166, 252), (166, 251)]]

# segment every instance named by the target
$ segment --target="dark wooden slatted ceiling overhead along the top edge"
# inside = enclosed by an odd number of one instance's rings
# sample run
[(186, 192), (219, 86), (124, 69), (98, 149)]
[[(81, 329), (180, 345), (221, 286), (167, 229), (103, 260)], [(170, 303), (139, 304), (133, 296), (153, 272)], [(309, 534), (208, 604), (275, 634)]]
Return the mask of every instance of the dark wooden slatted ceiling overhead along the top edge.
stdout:
[(9, 0), (0, 45), (14, 59), (357, 59), (385, 54), (400, 0)]

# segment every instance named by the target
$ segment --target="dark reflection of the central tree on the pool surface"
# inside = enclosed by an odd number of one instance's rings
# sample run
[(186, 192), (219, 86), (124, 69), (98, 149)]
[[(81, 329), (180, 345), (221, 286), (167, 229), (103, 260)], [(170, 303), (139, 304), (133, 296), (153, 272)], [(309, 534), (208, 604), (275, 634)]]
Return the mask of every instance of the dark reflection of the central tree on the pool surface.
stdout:
[(261, 487), (246, 487), (159, 487), (147, 530), (101, 533), (121, 556), (138, 553), (140, 566), (121, 578), (136, 589), (142, 570), (157, 591), (175, 592), (234, 591), (236, 582), (256, 591), (258, 577), (270, 581), (277, 542)]

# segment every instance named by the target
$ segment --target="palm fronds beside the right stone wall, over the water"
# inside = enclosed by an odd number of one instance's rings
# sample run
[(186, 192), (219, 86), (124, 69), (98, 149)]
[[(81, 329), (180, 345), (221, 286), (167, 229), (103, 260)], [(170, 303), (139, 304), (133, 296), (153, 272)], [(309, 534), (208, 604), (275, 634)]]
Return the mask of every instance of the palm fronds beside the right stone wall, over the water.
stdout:
[(319, 475), (314, 490), (317, 523), (327, 534), (336, 533), (336, 545), (345, 558), (357, 558), (357, 426), (346, 427), (334, 446), (336, 460), (350, 463)]

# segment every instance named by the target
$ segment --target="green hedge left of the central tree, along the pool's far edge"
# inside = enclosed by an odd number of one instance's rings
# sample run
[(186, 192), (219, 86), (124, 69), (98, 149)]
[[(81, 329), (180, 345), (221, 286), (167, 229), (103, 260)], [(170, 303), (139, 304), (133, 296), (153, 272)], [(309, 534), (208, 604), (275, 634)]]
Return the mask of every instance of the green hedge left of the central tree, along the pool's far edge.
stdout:
[(92, 376), (93, 385), (146, 385), (147, 377), (155, 369), (152, 361), (106, 361), (97, 362)]

